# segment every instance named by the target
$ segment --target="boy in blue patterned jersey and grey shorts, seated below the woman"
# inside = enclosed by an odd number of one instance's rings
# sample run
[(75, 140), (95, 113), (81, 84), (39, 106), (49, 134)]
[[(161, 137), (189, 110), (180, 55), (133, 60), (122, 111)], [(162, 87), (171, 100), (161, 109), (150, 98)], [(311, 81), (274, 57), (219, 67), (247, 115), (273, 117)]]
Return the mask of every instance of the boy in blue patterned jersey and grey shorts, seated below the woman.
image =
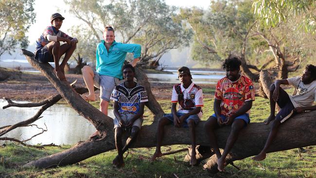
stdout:
[[(124, 166), (123, 153), (128, 149), (130, 143), (136, 139), (140, 131), (145, 102), (148, 101), (145, 88), (134, 82), (134, 76), (135, 69), (131, 64), (123, 66), (125, 82), (117, 85), (111, 95), (111, 99), (114, 101), (115, 146), (118, 152), (118, 156), (112, 163), (117, 167)], [(122, 133), (124, 129), (131, 130), (131, 135), (123, 147)]]

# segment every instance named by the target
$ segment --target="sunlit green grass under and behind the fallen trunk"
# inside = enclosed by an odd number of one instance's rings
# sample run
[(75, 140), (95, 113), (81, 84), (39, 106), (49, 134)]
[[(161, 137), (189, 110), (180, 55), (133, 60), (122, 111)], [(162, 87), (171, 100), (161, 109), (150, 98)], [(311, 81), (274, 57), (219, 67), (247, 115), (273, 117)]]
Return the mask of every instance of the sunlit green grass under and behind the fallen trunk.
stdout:
[[(291, 92), (289, 89), (288, 92)], [(204, 115), (202, 120), (213, 113), (213, 99), (205, 98)], [(165, 112), (170, 112), (170, 100), (161, 100), (159, 104)], [(98, 104), (95, 104), (98, 107)], [(251, 109), (251, 122), (263, 122), (269, 115), (269, 102), (267, 99), (257, 97)], [(152, 123), (152, 114), (145, 109), (144, 125)], [(162, 152), (169, 152), (185, 148), (187, 145), (170, 145), (162, 147)], [(125, 167), (121, 169), (112, 166), (112, 160), (116, 151), (109, 151), (81, 161), (74, 165), (57, 167), (53, 169), (25, 169), (22, 166), (38, 158), (60, 152), (70, 148), (70, 145), (62, 147), (46, 147), (38, 150), (16, 144), (7, 144), (0, 147), (0, 177), (13, 178), (199, 178), (199, 177), (230, 177), (230, 178), (316, 178), (316, 147), (309, 146), (298, 157), (298, 149), (269, 153), (263, 161), (257, 162), (250, 158), (234, 161), (241, 170), (238, 171), (231, 165), (226, 167), (226, 172), (211, 175), (202, 169), (202, 165), (189, 167), (183, 161), (186, 152), (164, 156), (158, 161), (150, 162), (149, 158), (155, 148), (130, 149), (125, 158)], [(176, 176), (175, 176), (176, 175)]]

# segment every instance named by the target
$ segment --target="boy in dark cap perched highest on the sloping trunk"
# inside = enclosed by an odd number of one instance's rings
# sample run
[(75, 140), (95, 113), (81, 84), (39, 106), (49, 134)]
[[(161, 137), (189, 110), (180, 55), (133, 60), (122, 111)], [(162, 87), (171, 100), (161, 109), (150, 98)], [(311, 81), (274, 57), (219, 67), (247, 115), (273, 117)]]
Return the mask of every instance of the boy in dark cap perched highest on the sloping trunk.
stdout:
[[(66, 81), (64, 68), (73, 51), (76, 49), (76, 43), (78, 43), (76, 38), (72, 38), (59, 30), (64, 19), (59, 13), (53, 14), (51, 16), (52, 25), (44, 29), (44, 32), (35, 43), (35, 59), (42, 63), (54, 62), (54, 72), (61, 81)], [(66, 43), (60, 45), (59, 41)], [(65, 54), (65, 57), (59, 65), (59, 59), (63, 54)]]

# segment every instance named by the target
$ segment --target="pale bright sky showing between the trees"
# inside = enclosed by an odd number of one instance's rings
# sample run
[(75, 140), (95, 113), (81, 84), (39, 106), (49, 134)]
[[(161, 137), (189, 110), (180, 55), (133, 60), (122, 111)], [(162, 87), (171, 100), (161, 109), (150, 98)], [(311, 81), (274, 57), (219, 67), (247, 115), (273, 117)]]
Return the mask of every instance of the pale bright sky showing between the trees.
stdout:
[[(65, 11), (66, 5), (64, 3), (64, 0), (53, 0), (54, 3), (52, 3), (51, 0), (35, 0), (35, 23), (31, 25), (29, 28), (29, 31), (27, 32), (28, 39), (30, 41), (28, 50), (34, 51), (35, 48), (35, 41), (40, 36), (40, 34), (43, 32), (44, 28), (50, 25), (50, 18), (53, 13), (59, 12), (63, 17), (65, 17), (64, 23), (61, 27), (61, 31), (65, 32), (66, 34), (70, 35), (68, 33), (70, 27), (76, 23), (81, 23), (77, 18), (74, 18), (72, 15), (70, 15), (68, 12)], [(174, 5), (178, 7), (192, 7), (197, 6), (206, 9), (210, 5), (210, 0), (165, 0), (165, 2), (168, 5)], [(174, 50), (173, 52), (169, 53), (169, 55), (166, 55), (165, 57), (162, 57), (162, 61), (166, 61), (167, 63), (170, 63), (169, 61), (183, 61), (183, 59), (177, 58), (177, 53), (186, 53), (186, 56), (189, 56), (189, 54), (186, 52), (187, 50)], [(179, 54), (181, 56), (185, 56), (184, 54)], [(168, 57), (168, 59), (164, 59)], [(23, 59), (24, 56), (15, 53), (12, 56), (1, 56), (2, 59), (5, 58), (14, 58), (14, 59)], [(185, 60), (186, 62), (190, 62), (190, 60)], [(170, 64), (165, 64), (169, 65)], [(184, 64), (183, 64), (184, 65)], [(192, 64), (193, 65), (193, 64)], [(192, 66), (191, 65), (191, 66)]]

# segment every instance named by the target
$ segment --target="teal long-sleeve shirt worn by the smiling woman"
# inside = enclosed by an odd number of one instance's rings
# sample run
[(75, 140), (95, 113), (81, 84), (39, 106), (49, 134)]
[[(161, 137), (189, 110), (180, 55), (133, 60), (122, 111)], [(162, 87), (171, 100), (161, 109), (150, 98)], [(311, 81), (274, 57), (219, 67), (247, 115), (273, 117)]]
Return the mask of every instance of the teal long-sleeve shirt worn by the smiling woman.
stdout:
[(99, 75), (107, 75), (123, 79), (122, 67), (127, 53), (134, 53), (134, 58), (140, 57), (141, 47), (139, 44), (123, 44), (113, 41), (108, 49), (105, 41), (101, 40), (96, 50), (96, 71)]

